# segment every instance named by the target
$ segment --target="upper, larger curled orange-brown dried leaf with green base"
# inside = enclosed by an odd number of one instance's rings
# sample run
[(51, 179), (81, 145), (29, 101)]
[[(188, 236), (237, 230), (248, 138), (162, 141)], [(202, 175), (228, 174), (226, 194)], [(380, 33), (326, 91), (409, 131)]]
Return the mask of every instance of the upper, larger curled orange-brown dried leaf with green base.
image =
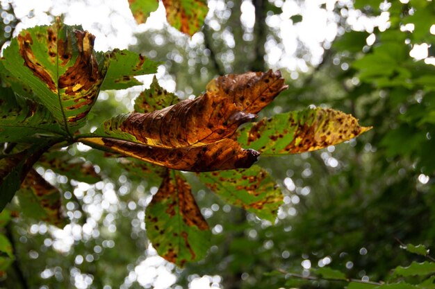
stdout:
[(286, 87), (279, 71), (221, 76), (195, 100), (147, 114), (115, 116), (92, 135), (161, 148), (204, 146), (230, 137)]

